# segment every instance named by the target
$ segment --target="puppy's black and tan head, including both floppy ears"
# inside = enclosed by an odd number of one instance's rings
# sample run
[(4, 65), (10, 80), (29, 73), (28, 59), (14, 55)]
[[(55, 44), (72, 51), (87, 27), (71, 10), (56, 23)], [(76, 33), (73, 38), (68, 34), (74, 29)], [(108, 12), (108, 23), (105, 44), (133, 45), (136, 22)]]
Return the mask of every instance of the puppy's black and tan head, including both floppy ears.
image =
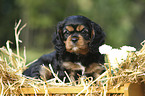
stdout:
[(104, 42), (104, 33), (99, 25), (88, 18), (70, 16), (58, 23), (53, 42), (59, 52), (85, 55), (98, 52), (98, 47)]

